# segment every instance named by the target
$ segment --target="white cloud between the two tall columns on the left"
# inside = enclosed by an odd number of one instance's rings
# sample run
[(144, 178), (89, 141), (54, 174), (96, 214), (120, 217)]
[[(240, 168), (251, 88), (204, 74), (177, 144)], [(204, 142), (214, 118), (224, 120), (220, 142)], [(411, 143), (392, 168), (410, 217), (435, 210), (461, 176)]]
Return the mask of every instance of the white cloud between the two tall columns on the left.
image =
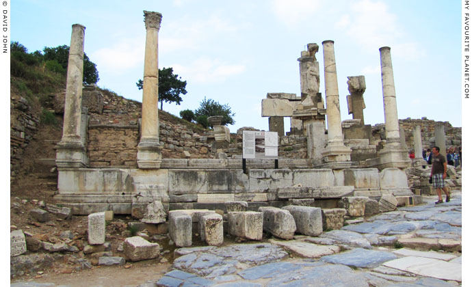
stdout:
[(94, 59), (100, 72), (122, 74), (127, 69), (144, 64), (144, 46), (141, 38), (123, 38), (112, 46), (92, 52), (90, 58)]

